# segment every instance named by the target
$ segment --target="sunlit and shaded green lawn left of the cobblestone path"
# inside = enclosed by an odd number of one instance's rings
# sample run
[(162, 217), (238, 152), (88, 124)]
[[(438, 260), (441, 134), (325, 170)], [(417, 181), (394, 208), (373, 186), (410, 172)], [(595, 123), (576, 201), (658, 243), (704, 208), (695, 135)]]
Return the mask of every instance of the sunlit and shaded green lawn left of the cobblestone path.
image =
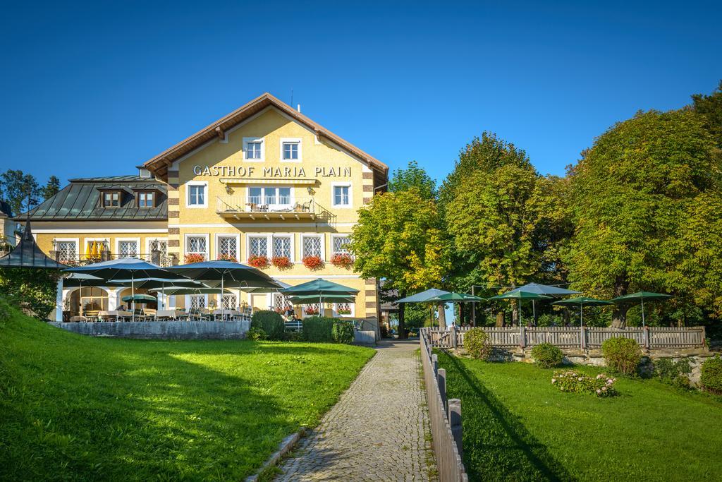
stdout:
[(315, 426), (371, 356), (0, 320), (0, 480), (243, 480), (284, 436)]

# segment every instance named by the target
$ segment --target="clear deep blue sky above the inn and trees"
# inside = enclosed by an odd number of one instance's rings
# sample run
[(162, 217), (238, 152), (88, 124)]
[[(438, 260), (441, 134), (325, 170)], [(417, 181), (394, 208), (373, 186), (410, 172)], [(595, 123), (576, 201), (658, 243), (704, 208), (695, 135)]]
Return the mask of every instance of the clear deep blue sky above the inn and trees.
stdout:
[[(6, 2), (0, 170), (134, 166), (269, 91), (438, 179), (484, 130), (541, 173), (722, 78), (718, 2)], [(154, 2), (155, 3), (155, 2)]]

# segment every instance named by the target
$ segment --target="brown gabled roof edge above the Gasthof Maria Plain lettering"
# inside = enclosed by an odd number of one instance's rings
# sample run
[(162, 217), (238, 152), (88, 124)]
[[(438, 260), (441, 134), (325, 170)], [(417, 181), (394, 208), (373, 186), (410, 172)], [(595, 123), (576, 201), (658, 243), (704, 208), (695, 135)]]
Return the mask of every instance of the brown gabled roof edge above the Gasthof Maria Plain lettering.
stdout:
[(388, 173), (388, 165), (382, 163), (380, 160), (360, 150), (355, 145), (346, 142), (344, 139), (337, 136), (328, 129), (325, 129), (323, 126), (316, 124), (316, 122), (304, 116), (302, 113), (296, 111), (287, 103), (284, 103), (281, 100), (275, 98), (268, 92), (258, 98), (251, 100), (251, 102), (245, 104), (245, 106), (241, 106), (227, 116), (218, 119), (213, 124), (206, 126), (204, 129), (196, 132), (196, 134), (188, 137), (188, 139), (178, 142), (178, 144), (170, 147), (170, 149), (161, 152), (159, 155), (155, 156), (155, 158), (152, 158), (146, 163), (144, 163), (143, 167), (151, 171), (152, 173), (155, 173), (158, 178), (167, 179), (168, 166), (170, 166), (173, 161), (178, 160), (179, 158), (183, 157), (183, 155), (186, 155), (188, 154), (188, 152), (191, 152), (192, 150), (201, 147), (201, 145), (204, 145), (206, 142), (209, 142), (214, 138), (222, 138), (225, 135), (225, 132), (227, 132), (229, 129), (232, 129), (232, 127), (240, 124), (241, 122), (245, 121), (245, 119), (248, 119), (256, 113), (263, 111), (266, 107), (269, 106), (277, 108), (279, 111), (287, 114), (287, 116), (295, 119), (295, 121), (300, 122), (300, 124), (307, 126), (309, 129), (313, 129), (313, 131), (316, 132), (317, 136), (325, 137), (331, 142), (334, 142), (334, 144), (342, 147), (344, 150), (351, 152), (357, 158), (360, 158), (366, 163), (368, 163), (369, 167), (373, 168), (373, 171), (377, 173), (379, 178), (386, 178), (386, 175)]

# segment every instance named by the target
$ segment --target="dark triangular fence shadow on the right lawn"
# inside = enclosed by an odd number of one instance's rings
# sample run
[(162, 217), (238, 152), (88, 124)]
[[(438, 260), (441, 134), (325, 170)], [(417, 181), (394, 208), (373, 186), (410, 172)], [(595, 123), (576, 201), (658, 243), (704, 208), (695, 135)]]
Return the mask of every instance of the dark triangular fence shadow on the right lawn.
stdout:
[(448, 396), (461, 398), (469, 480), (570, 481), (573, 476), (454, 356), (439, 354)]

